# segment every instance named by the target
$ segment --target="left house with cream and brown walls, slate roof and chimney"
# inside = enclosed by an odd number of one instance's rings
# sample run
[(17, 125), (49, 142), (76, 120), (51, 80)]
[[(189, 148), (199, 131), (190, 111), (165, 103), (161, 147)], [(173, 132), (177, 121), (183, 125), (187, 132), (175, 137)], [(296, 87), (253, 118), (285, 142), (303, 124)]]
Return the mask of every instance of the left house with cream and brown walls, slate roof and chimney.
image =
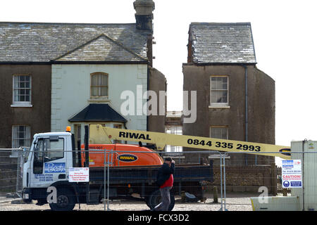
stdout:
[[(165, 115), (138, 113), (166, 79), (151, 67), (154, 2), (134, 7), (130, 24), (0, 23), (0, 148), (68, 125), (76, 139), (92, 123), (164, 131)], [(135, 97), (128, 115), (125, 91)]]

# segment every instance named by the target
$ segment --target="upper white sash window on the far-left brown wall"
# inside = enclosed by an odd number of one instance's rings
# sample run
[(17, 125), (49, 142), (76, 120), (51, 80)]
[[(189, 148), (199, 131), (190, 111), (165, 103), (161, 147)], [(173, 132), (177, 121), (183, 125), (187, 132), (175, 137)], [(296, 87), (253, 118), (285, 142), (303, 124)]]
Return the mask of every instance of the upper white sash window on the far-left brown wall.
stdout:
[(11, 106), (32, 106), (30, 75), (13, 75), (13, 105)]

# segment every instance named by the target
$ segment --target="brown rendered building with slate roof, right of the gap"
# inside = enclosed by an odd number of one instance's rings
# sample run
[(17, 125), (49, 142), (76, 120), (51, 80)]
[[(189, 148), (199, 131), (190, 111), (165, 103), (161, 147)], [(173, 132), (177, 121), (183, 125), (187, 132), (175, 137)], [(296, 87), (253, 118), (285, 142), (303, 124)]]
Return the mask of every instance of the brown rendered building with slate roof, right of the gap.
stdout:
[[(187, 47), (183, 90), (197, 91), (197, 120), (184, 123), (182, 133), (274, 144), (275, 82), (256, 68), (251, 24), (192, 23)], [(249, 154), (230, 154), (228, 161), (271, 162), (272, 157)]]

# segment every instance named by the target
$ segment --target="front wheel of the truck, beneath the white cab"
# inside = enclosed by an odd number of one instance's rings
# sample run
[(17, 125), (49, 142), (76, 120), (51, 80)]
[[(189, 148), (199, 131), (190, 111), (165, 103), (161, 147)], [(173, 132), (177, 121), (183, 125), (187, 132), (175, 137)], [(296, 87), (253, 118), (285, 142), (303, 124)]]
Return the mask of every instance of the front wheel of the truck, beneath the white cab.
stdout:
[(75, 207), (75, 194), (69, 188), (57, 188), (57, 203), (50, 203), (52, 211), (71, 211)]

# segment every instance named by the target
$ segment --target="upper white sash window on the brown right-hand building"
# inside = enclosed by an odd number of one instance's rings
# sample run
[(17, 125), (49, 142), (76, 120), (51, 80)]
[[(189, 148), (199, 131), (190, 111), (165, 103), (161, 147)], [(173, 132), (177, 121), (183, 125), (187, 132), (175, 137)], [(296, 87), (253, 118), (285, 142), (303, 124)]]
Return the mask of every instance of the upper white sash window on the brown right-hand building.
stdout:
[(210, 105), (213, 107), (228, 106), (228, 76), (210, 77)]

